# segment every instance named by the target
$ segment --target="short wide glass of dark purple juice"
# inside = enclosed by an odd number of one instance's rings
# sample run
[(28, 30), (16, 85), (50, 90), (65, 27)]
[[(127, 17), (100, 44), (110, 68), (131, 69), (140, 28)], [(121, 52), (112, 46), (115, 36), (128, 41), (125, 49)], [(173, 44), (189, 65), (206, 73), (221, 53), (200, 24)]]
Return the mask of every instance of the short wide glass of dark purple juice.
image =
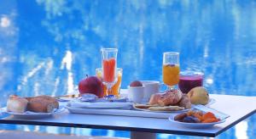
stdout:
[(203, 86), (203, 73), (197, 71), (183, 71), (179, 75), (178, 87), (181, 92), (188, 93), (196, 86)]

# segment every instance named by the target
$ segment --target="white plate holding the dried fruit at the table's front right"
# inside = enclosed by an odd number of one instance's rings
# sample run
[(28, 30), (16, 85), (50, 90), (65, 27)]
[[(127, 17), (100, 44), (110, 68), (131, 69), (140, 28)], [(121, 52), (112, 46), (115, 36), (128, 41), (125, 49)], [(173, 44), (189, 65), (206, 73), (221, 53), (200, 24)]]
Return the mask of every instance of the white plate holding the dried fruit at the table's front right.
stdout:
[(182, 125), (182, 126), (188, 127), (188, 128), (210, 128), (213, 125), (224, 123), (224, 121), (225, 121), (225, 119), (223, 119), (223, 120), (220, 120), (218, 122), (213, 122), (213, 123), (185, 123), (185, 122), (180, 122), (180, 121), (174, 120), (174, 116), (170, 116), (169, 120), (173, 124)]

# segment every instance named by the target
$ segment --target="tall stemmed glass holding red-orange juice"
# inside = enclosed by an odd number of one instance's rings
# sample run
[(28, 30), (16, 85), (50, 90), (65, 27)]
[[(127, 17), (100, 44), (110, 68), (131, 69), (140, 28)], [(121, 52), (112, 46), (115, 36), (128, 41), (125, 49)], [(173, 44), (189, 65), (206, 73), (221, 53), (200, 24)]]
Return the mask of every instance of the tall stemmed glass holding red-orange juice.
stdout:
[(107, 86), (107, 96), (117, 81), (117, 53), (117, 48), (102, 48), (102, 82)]

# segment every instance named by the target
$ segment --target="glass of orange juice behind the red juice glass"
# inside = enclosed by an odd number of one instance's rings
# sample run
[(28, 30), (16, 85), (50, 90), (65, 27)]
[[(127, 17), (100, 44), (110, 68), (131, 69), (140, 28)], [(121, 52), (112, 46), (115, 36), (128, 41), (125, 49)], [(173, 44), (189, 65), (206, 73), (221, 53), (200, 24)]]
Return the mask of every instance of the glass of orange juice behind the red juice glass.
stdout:
[[(104, 96), (114, 95), (116, 97), (119, 97), (119, 91), (120, 91), (120, 87), (121, 87), (123, 69), (117, 68), (117, 73), (118, 73), (118, 81), (111, 87), (111, 92), (107, 92), (107, 86), (103, 85)], [(102, 68), (97, 68), (96, 69), (96, 76), (102, 80)]]

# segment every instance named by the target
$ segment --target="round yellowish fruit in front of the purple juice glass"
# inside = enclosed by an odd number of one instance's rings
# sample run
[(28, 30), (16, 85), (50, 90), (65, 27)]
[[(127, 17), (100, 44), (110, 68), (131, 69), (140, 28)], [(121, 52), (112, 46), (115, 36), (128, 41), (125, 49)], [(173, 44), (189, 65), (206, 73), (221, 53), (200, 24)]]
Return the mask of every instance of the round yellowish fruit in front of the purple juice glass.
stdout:
[(207, 89), (202, 86), (197, 86), (191, 89), (188, 93), (190, 102), (193, 104), (205, 105), (209, 102), (209, 94)]

